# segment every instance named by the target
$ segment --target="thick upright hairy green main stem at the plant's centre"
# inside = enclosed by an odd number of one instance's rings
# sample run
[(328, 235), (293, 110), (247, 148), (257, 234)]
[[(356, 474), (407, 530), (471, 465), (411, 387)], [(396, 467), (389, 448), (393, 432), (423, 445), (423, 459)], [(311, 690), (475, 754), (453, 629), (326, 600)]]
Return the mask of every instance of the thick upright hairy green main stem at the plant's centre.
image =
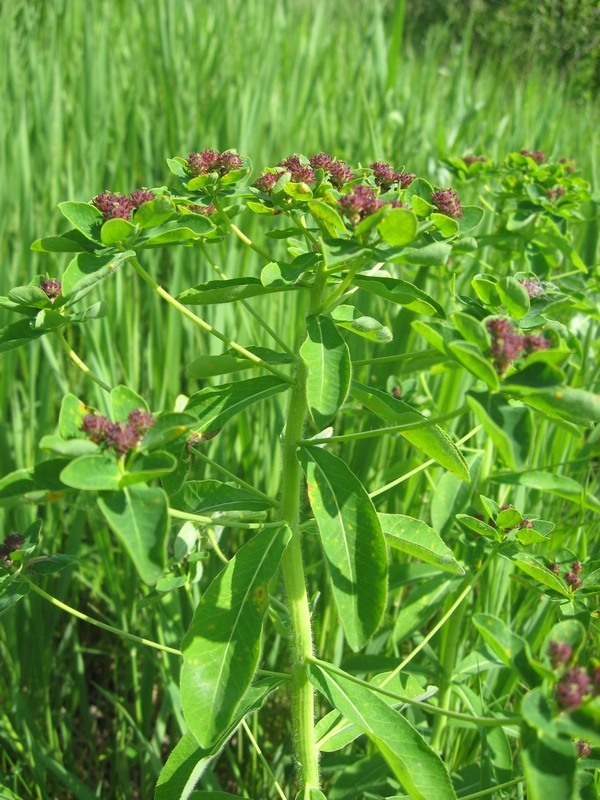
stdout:
[[(322, 269), (311, 290), (309, 314), (322, 301), (326, 276)], [(306, 593), (300, 531), (301, 469), (296, 457), (306, 419), (306, 364), (299, 359), (296, 383), (291, 391), (282, 448), (281, 517), (292, 538), (283, 555), (282, 567), (292, 628), (292, 717), (294, 746), (303, 788), (319, 788), (319, 756), (315, 739), (314, 690), (308, 677), (313, 658), (312, 626)]]

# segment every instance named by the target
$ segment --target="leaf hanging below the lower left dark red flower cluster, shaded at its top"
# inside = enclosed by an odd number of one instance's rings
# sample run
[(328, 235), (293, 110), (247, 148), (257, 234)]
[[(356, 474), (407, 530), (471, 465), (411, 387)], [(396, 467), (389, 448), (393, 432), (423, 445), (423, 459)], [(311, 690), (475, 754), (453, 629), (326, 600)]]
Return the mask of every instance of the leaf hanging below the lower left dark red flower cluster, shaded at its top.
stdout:
[(140, 578), (148, 584), (156, 583), (167, 561), (167, 495), (162, 489), (131, 486), (103, 493), (98, 505)]

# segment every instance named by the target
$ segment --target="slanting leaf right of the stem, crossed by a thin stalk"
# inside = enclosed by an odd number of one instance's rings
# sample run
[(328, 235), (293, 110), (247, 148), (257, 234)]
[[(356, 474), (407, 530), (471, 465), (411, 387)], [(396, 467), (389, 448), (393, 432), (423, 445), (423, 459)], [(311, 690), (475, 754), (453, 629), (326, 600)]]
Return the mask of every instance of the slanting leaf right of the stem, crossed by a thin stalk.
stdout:
[[(352, 382), (352, 396), (362, 403), (374, 414), (383, 419), (388, 425), (403, 425), (404, 423), (424, 421), (425, 417), (414, 408), (401, 400), (396, 400), (386, 392), (363, 386), (356, 381)], [(454, 444), (448, 434), (439, 425), (429, 425), (426, 428), (417, 428), (412, 431), (399, 431), (425, 455), (433, 458), (442, 467), (453, 472), (464, 481), (471, 480), (469, 467), (462, 453)]]

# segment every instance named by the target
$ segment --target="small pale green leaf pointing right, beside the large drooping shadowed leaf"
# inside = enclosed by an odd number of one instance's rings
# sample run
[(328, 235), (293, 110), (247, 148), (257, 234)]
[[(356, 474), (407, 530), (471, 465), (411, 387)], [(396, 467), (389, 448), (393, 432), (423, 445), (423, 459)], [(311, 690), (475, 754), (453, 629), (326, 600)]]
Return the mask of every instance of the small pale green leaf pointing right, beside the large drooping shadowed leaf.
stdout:
[(404, 514), (378, 514), (381, 530), (390, 547), (408, 553), (420, 561), (435, 564), (446, 572), (464, 575), (465, 571), (454, 558), (443, 539), (420, 519)]

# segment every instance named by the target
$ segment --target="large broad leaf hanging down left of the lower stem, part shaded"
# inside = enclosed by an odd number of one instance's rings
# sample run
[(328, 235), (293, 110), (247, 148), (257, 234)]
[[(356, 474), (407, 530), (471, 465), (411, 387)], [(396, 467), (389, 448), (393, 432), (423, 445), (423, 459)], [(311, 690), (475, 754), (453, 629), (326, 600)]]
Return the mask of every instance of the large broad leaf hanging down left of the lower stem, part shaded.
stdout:
[(258, 661), (269, 581), (290, 539), (289, 528), (262, 530), (217, 575), (182, 642), (181, 703), (202, 747), (226, 731)]

